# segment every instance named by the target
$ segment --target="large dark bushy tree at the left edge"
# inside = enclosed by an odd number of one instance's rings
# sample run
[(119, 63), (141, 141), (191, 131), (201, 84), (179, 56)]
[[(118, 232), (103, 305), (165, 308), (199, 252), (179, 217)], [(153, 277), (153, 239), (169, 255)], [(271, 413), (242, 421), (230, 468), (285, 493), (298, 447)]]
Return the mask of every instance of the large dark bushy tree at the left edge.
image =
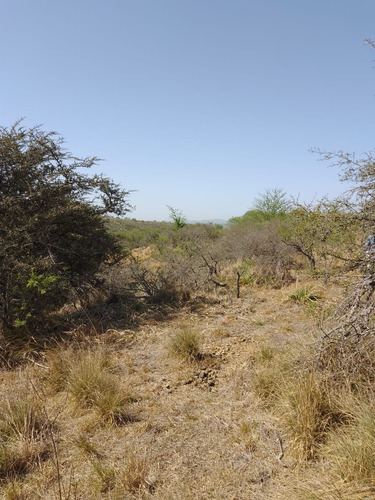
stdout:
[(130, 210), (128, 191), (83, 172), (55, 132), (0, 127), (0, 329), (33, 334), (119, 255), (103, 215)]

